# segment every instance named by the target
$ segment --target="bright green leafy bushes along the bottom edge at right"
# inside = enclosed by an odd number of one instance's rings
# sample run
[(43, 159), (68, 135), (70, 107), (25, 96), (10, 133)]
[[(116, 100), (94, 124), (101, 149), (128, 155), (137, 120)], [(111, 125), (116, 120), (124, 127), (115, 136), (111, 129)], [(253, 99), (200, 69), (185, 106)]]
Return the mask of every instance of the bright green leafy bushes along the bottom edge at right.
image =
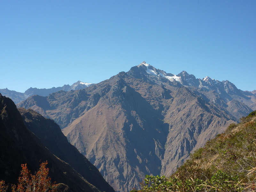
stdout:
[[(198, 170), (198, 169), (197, 169)], [(196, 171), (196, 170), (195, 170)], [(170, 178), (165, 176), (146, 175), (145, 183), (141, 183), (143, 192), (201, 192), (201, 191), (233, 191), (240, 192), (243, 188), (237, 186), (238, 177), (228, 176), (227, 173), (218, 170), (211, 178), (180, 178), (180, 175), (172, 174)]]

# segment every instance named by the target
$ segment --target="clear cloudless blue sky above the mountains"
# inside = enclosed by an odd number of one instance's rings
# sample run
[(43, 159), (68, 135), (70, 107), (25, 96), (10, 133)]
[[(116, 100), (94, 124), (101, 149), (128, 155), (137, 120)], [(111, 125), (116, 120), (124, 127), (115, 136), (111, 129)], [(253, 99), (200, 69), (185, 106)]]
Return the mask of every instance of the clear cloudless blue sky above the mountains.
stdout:
[(256, 1), (0, 1), (0, 88), (98, 83), (144, 60), (255, 90)]

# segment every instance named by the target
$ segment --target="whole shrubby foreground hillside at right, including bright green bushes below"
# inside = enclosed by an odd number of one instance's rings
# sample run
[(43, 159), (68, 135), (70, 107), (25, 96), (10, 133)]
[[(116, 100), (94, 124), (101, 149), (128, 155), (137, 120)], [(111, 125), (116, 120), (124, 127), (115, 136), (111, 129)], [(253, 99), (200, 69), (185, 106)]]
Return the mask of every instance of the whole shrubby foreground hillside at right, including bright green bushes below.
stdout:
[(253, 111), (197, 149), (171, 177), (147, 175), (141, 187), (145, 192), (255, 191), (255, 175), (256, 111)]

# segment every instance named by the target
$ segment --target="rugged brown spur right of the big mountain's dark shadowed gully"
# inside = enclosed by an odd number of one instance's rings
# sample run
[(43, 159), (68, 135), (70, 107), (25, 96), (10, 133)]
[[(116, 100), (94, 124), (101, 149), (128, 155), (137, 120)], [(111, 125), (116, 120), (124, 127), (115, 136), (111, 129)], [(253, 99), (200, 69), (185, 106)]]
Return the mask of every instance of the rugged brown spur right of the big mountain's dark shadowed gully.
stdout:
[(234, 119), (181, 87), (166, 111), (164, 122), (170, 127), (161, 174), (171, 175), (191, 152), (223, 132)]

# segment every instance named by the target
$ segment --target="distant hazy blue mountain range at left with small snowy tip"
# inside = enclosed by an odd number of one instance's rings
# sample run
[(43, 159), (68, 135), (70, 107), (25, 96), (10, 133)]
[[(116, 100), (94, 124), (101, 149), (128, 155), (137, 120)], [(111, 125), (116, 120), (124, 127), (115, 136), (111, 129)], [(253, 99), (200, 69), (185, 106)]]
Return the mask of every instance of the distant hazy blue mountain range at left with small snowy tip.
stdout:
[(0, 89), (0, 93), (3, 96), (9, 97), (10, 99), (13, 100), (13, 102), (15, 104), (17, 104), (32, 95), (48, 96), (50, 93), (57, 92), (60, 90), (63, 90), (63, 91), (79, 90), (79, 89), (84, 89), (86, 87), (89, 87), (91, 85), (93, 85), (93, 84), (92, 83), (83, 83), (79, 80), (76, 83), (72, 84), (71, 86), (69, 84), (67, 84), (67, 85), (65, 84), (62, 87), (52, 87), (50, 89), (45, 89), (45, 88), (37, 89), (37, 88), (30, 87), (24, 93), (11, 91), (6, 88), (6, 89)]

